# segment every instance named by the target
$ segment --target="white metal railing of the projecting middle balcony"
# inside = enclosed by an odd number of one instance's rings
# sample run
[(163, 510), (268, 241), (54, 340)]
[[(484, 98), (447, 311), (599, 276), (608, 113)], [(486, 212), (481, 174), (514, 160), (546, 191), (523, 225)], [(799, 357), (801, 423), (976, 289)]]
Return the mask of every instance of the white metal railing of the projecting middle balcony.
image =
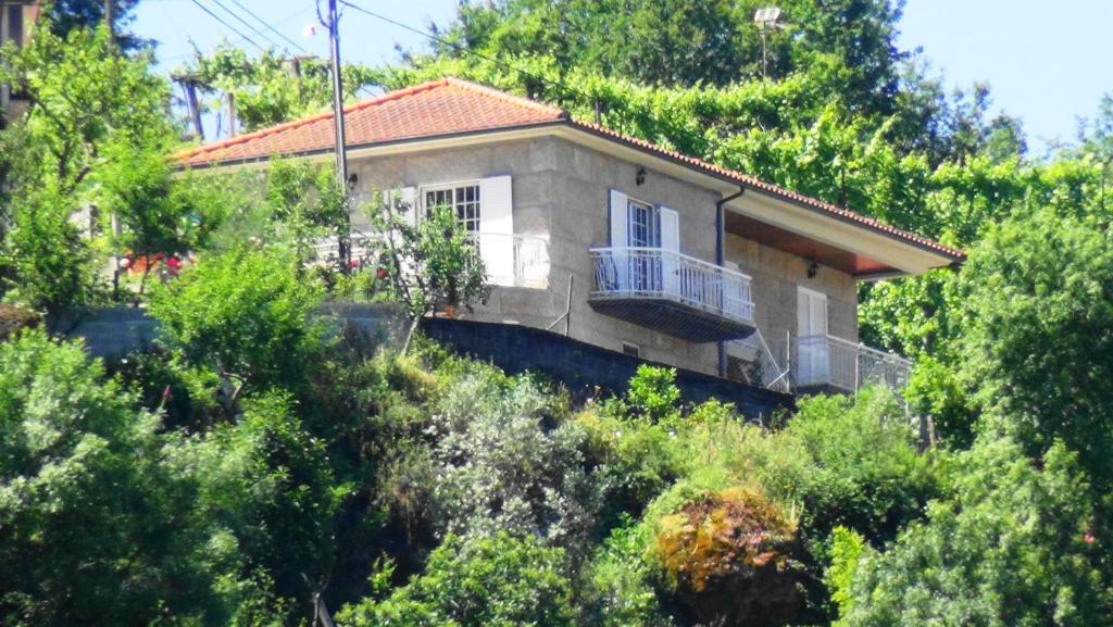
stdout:
[(667, 298), (739, 322), (754, 322), (750, 277), (661, 248), (591, 248), (592, 298)]

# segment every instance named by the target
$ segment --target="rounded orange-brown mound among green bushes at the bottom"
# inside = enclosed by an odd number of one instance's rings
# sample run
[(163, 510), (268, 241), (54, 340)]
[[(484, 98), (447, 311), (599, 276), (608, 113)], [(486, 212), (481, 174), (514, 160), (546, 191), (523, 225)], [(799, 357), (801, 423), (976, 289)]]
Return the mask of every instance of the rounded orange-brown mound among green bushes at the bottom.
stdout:
[(748, 489), (687, 502), (660, 520), (654, 551), (677, 600), (702, 624), (790, 623), (804, 607), (796, 523)]

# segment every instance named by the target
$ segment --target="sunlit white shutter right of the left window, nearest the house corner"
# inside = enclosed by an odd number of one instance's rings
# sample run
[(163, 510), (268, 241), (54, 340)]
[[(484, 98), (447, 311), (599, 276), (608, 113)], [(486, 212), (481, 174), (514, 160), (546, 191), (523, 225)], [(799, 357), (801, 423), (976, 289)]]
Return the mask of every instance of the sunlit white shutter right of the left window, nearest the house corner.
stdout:
[(513, 286), (514, 202), (509, 175), (480, 180), (480, 256), (487, 281)]

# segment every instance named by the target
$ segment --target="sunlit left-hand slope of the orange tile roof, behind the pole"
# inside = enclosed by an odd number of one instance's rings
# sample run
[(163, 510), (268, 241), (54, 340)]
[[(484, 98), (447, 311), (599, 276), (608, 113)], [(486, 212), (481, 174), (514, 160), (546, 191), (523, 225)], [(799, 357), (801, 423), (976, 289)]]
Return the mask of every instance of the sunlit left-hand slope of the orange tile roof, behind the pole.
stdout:
[[(473, 82), (446, 78), (344, 108), (347, 146), (498, 130), (567, 119), (564, 111)], [(332, 150), (332, 111), (207, 144), (175, 155), (184, 167)]]

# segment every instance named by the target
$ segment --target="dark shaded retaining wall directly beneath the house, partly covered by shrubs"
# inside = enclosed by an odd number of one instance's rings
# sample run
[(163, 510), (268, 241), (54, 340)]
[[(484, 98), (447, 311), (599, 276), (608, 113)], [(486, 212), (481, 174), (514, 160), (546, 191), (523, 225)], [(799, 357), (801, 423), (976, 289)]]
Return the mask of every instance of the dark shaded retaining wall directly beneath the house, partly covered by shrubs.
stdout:
[[(453, 352), (490, 362), (510, 374), (535, 372), (561, 382), (578, 402), (622, 394), (638, 366), (647, 363), (620, 352), (565, 337), (559, 333), (467, 320), (426, 319), (425, 334)], [(653, 364), (671, 365), (671, 364)], [(768, 424), (779, 412), (795, 409), (790, 394), (690, 370), (677, 370), (683, 402), (710, 399), (732, 403), (748, 419)]]

